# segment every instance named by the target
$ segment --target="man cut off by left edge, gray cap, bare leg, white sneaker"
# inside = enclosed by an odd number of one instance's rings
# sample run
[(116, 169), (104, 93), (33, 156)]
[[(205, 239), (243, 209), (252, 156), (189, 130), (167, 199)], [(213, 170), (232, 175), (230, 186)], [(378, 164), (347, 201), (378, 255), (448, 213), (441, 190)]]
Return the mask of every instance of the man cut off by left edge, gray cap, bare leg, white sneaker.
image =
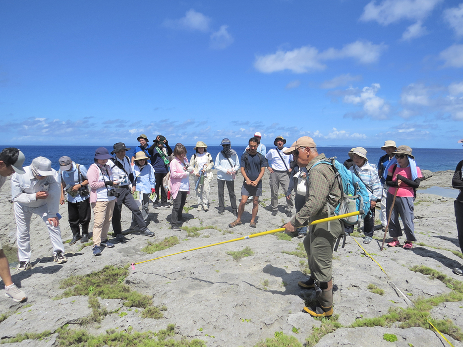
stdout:
[[(17, 148), (5, 148), (0, 153), (0, 188), (5, 183), (6, 177), (17, 172), (24, 174), (22, 165), (24, 164), (24, 154)], [(0, 278), (5, 285), (5, 296), (11, 297), (16, 302), (27, 300), (26, 293), (17, 288), (16, 285), (11, 281), (11, 273), (9, 272), (8, 259), (6, 259), (5, 253), (0, 242)]]

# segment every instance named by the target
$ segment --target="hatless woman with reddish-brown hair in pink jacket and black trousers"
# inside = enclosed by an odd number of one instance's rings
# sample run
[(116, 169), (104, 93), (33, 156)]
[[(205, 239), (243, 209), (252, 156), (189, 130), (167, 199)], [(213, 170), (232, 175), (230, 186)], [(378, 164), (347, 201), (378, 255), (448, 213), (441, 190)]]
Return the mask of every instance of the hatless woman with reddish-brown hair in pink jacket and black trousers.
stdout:
[(185, 206), (186, 194), (190, 193), (188, 175), (193, 172), (193, 168), (188, 165), (188, 159), (186, 159), (186, 148), (181, 143), (175, 145), (174, 159), (170, 164), (170, 168), (171, 195), (174, 199), (171, 214), (171, 229), (180, 230), (178, 223), (183, 222), (183, 206)]

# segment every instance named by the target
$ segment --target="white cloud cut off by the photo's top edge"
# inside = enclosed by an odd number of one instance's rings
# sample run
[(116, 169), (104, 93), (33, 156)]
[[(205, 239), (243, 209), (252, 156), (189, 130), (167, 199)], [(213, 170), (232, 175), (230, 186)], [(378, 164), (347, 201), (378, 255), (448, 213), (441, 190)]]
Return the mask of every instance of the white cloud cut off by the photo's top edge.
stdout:
[(382, 25), (389, 25), (401, 19), (422, 20), (442, 0), (384, 0), (376, 5), (370, 1), (360, 16), (362, 21), (374, 20)]

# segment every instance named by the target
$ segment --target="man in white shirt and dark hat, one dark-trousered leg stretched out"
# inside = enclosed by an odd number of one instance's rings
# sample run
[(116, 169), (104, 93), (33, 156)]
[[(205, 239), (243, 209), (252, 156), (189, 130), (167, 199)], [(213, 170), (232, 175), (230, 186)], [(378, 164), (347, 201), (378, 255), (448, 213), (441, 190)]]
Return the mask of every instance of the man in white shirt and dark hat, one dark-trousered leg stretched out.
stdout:
[[(146, 223), (143, 220), (141, 211), (138, 208), (137, 203), (133, 199), (132, 192), (135, 191), (135, 177), (133, 175), (133, 169), (130, 165), (130, 160), (125, 155), (126, 151), (130, 151), (130, 148), (125, 147), (123, 142), (117, 142), (113, 146), (113, 151), (111, 154), (116, 154), (116, 157), (112, 158), (108, 162), (108, 165), (113, 171), (114, 181), (119, 181), (120, 183), (115, 185), (114, 188), (119, 193), (116, 199), (116, 205), (114, 206), (113, 212), (113, 231), (116, 235), (116, 240), (118, 242), (124, 241), (124, 236), (122, 235), (122, 227), (120, 225), (120, 211), (122, 209), (122, 204), (124, 204), (130, 211), (133, 213), (135, 222), (138, 224), (138, 228), (141, 233), (145, 236), (154, 236), (154, 232), (150, 231), (146, 227)], [(130, 185), (132, 188), (130, 189)]]

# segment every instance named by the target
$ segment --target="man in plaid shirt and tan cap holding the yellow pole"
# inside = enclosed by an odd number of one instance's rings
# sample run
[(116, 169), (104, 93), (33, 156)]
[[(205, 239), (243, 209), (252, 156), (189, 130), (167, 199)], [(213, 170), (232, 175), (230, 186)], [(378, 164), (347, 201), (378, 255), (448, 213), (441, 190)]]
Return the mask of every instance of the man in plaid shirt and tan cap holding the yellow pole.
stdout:
[[(290, 233), (312, 221), (333, 215), (333, 211), (341, 200), (341, 189), (331, 165), (319, 164), (312, 169), (312, 166), (319, 160), (326, 160), (323, 153), (318, 154), (312, 138), (300, 137), (283, 152), (292, 154), (299, 167), (306, 167), (308, 171), (305, 204), (285, 225), (285, 232)], [(316, 291), (318, 304), (315, 307), (303, 308), (303, 311), (311, 316), (329, 317), (333, 315), (332, 256), (336, 240), (342, 233), (342, 223), (340, 220), (335, 220), (311, 226), (304, 238), (310, 279), (306, 282), (299, 282), (299, 286)]]

